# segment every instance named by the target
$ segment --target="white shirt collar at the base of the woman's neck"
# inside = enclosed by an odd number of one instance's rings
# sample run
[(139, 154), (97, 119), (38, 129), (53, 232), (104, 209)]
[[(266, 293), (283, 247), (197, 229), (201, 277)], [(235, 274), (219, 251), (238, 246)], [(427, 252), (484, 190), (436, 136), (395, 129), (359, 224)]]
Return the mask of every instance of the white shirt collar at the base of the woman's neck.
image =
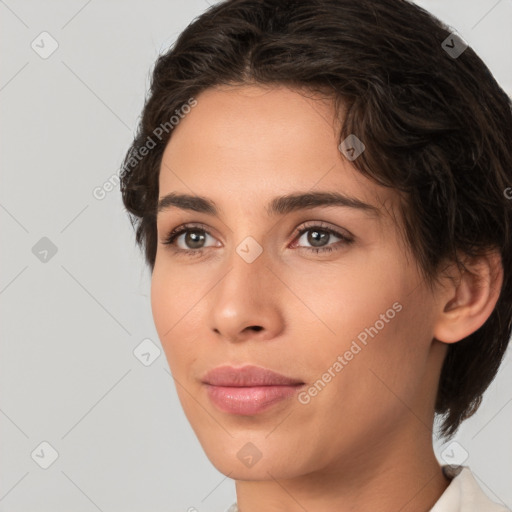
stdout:
[[(429, 512), (511, 512), (484, 494), (468, 466), (442, 469), (451, 482)], [(226, 512), (239, 512), (237, 504)]]

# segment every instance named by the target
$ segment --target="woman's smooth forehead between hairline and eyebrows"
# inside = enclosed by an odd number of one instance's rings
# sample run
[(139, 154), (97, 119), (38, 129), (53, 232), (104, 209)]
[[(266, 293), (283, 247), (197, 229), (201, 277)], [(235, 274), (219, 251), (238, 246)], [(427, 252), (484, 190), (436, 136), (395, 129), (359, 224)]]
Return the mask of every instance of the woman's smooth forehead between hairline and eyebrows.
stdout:
[(260, 86), (212, 88), (196, 100), (165, 149), (160, 197), (197, 194), (251, 208), (315, 190), (379, 207), (396, 200), (340, 153), (332, 100)]

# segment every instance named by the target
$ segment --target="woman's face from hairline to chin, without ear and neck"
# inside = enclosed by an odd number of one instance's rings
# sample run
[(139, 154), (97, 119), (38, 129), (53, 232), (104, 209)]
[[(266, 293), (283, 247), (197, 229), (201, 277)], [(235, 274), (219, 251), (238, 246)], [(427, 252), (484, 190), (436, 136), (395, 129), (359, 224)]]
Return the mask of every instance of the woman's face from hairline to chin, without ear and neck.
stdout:
[[(196, 99), (163, 155), (151, 301), (207, 456), (231, 478), (291, 478), (423, 435), (444, 354), (396, 192), (340, 152), (326, 100), (256, 86)], [(241, 377), (248, 365), (290, 380)], [(235, 371), (207, 375), (222, 366)]]

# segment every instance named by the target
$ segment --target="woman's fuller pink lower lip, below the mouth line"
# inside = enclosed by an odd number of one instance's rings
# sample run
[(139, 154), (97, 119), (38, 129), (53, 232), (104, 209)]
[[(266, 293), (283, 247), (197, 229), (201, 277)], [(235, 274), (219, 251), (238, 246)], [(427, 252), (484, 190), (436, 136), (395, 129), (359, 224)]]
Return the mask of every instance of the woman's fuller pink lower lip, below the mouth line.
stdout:
[(296, 386), (225, 387), (206, 384), (210, 400), (223, 412), (249, 416), (266, 411), (293, 396), (303, 384)]

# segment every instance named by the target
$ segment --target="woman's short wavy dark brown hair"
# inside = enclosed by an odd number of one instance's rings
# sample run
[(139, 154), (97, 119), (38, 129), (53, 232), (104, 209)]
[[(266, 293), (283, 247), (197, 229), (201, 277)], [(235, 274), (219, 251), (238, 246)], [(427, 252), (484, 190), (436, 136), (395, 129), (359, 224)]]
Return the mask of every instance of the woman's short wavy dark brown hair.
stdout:
[(493, 313), (449, 346), (443, 364), (435, 411), (445, 437), (478, 408), (512, 330), (512, 105), (470, 47), (449, 54), (450, 32), (405, 0), (218, 3), (158, 58), (121, 173), (124, 205), (153, 270), (160, 163), (176, 111), (221, 84), (329, 90), (343, 106), (340, 141), (356, 134), (366, 146), (355, 168), (403, 195), (405, 235), (427, 282), (443, 262), (463, 268), (457, 252), (501, 253)]

